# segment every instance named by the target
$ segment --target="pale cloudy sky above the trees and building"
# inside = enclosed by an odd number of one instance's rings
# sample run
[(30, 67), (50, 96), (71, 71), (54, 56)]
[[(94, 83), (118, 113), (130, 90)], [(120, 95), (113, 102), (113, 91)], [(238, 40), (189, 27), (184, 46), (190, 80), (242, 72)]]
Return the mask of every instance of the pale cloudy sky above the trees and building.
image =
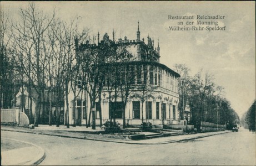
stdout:
[[(116, 32), (118, 38), (159, 39), (160, 63), (174, 70), (185, 64), (194, 76), (203, 69), (224, 87), (225, 97), (242, 117), (255, 100), (255, 2), (253, 1), (139, 1), (139, 2), (35, 2), (37, 7), (69, 22), (76, 19), (79, 28), (102, 37)], [(20, 7), (27, 2), (1, 2), (11, 18), (18, 18)], [(172, 16), (193, 16), (174, 20)], [(224, 19), (197, 19), (197, 15), (222, 15)], [(217, 21), (218, 25), (195, 25), (198, 20)], [(169, 30), (169, 27), (225, 27), (225, 30)], [(178, 25), (183, 22), (183, 25)]]

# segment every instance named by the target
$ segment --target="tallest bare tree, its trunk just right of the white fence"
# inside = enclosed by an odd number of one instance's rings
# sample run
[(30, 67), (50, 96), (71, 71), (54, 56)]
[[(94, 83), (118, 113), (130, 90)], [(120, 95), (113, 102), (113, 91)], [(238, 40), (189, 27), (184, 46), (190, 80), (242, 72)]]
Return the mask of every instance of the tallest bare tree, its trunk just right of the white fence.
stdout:
[[(22, 69), (28, 78), (28, 81), (37, 92), (36, 110), (34, 125), (38, 126), (38, 117), (41, 110), (41, 101), (44, 97), (43, 90), (45, 86), (44, 69), (46, 68), (46, 56), (43, 54), (43, 41), (46, 30), (51, 25), (55, 17), (55, 13), (51, 17), (44, 14), (42, 10), (38, 9), (34, 3), (29, 3), (26, 9), (20, 9), (19, 16), (21, 22), (13, 23), (14, 45), (17, 49), (17, 55), (22, 57)], [(25, 68), (24, 58), (29, 61), (29, 69)], [(28, 71), (31, 70), (31, 73)]]

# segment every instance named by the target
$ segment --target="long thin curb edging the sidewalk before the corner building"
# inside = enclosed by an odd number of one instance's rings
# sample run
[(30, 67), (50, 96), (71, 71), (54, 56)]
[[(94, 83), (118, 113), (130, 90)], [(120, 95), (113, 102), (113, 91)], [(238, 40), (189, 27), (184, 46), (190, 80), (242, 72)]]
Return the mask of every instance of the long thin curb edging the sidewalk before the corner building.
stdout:
[(194, 138), (185, 138), (185, 139), (179, 139), (179, 140), (173, 140), (173, 141), (161, 142), (161, 143), (159, 143), (159, 142), (158, 143), (136, 143), (136, 142), (109, 141), (109, 140), (84, 138), (84, 137), (63, 136), (63, 135), (59, 135), (59, 134), (36, 133), (36, 132), (27, 132), (27, 131), (13, 131), (13, 130), (9, 130), (9, 129), (1, 129), (1, 130), (2, 131), (11, 131), (11, 132), (30, 133), (30, 134), (41, 134), (41, 135), (46, 135), (46, 136), (56, 136), (56, 137), (63, 137), (63, 138), (86, 139), (86, 140), (90, 140), (90, 141), (124, 143), (124, 144), (168, 144), (168, 143), (189, 141), (189, 140), (192, 140), (192, 139), (198, 139), (198, 138), (204, 138), (204, 137), (210, 137), (210, 136), (215, 136), (215, 135), (219, 135), (219, 134), (229, 133), (229, 132), (215, 133), (215, 134), (213, 133), (213, 134), (209, 134), (209, 135), (206, 135), (206, 136), (197, 136), (197, 137), (194, 137)]

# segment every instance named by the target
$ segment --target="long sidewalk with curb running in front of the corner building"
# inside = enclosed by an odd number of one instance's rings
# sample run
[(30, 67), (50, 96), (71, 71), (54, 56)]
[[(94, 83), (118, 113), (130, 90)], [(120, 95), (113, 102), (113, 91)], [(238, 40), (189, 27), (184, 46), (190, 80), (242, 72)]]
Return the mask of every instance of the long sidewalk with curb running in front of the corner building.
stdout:
[(104, 133), (104, 131), (99, 127), (96, 127), (96, 129), (93, 130), (92, 127), (86, 128), (86, 126), (77, 126), (77, 127), (70, 126), (70, 128), (67, 128), (66, 126), (56, 127), (56, 126), (48, 126), (48, 125), (39, 125), (39, 127), (36, 127), (35, 129), (29, 129), (29, 128), (17, 127), (17, 126), (1, 126), (1, 130), (33, 133), (33, 134), (44, 134), (48, 136), (58, 136), (58, 137), (67, 137), (67, 138), (88, 139), (92, 141), (128, 143), (128, 144), (166, 144), (166, 143), (179, 142), (179, 141), (188, 141), (191, 139), (209, 137), (217, 134), (231, 132), (231, 131), (219, 131), (219, 132), (197, 133), (197, 134), (170, 136), (170, 137), (159, 137), (159, 138), (152, 138), (152, 139), (142, 139), (142, 140), (135, 141), (127, 137), (123, 137), (123, 133), (102, 134)]

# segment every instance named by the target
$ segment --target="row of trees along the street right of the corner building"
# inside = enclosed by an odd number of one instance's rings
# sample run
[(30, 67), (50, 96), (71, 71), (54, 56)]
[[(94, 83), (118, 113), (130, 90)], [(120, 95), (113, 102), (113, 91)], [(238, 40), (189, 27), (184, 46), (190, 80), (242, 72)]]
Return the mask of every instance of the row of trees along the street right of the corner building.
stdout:
[(189, 75), (190, 69), (184, 64), (175, 65), (180, 74), (178, 80), (180, 119), (183, 120), (185, 102), (189, 101), (192, 120), (190, 123), (198, 125), (201, 121), (219, 124), (239, 123), (237, 113), (224, 97), (223, 87), (217, 86), (213, 75), (203, 74), (200, 70), (194, 76)]

